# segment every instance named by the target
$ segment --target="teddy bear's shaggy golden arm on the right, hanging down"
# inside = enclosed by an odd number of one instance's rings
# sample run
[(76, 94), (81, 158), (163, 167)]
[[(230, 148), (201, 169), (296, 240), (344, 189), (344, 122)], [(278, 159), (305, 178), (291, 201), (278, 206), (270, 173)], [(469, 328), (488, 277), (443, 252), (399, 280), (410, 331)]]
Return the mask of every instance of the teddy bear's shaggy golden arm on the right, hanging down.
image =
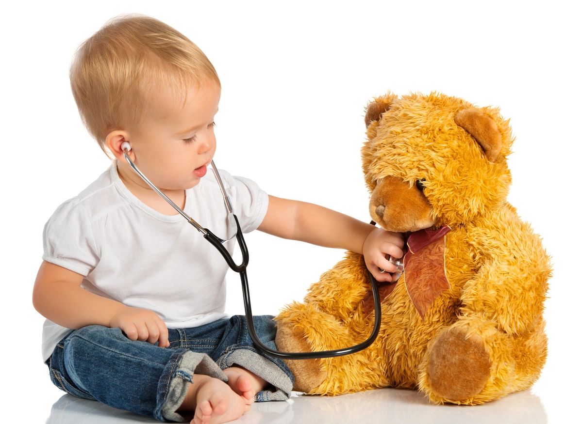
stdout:
[(477, 268), (461, 289), (463, 314), (492, 319), (509, 334), (530, 331), (540, 321), (551, 276), (540, 237), (509, 203), (475, 224), (465, 235)]

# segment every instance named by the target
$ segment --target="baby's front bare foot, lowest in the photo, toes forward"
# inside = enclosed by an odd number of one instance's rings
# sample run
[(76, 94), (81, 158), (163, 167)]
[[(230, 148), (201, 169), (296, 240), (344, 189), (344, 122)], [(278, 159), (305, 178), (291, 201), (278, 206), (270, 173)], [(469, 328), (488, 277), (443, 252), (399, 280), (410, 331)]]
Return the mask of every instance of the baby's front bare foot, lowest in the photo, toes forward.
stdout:
[(219, 424), (237, 419), (249, 409), (250, 405), (222, 380), (194, 375), (178, 412), (194, 411), (190, 424)]

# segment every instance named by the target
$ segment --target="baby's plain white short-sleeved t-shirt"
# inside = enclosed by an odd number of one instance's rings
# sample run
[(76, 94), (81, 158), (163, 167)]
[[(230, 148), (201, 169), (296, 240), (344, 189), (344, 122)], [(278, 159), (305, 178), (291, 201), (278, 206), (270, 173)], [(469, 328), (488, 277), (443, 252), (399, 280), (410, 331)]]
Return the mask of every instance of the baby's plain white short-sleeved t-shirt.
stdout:
[[(241, 229), (253, 231), (267, 213), (267, 193), (250, 179), (219, 173)], [(217, 236), (226, 234), (226, 207), (210, 169), (186, 190), (184, 211)], [(231, 254), (235, 240), (224, 243)], [(230, 268), (224, 258), (182, 215), (161, 214), (137, 199), (119, 178), (116, 161), (56, 209), (45, 224), (43, 245), (42, 259), (84, 275), (84, 289), (152, 310), (168, 328), (226, 317)], [(69, 331), (45, 321), (43, 361)]]

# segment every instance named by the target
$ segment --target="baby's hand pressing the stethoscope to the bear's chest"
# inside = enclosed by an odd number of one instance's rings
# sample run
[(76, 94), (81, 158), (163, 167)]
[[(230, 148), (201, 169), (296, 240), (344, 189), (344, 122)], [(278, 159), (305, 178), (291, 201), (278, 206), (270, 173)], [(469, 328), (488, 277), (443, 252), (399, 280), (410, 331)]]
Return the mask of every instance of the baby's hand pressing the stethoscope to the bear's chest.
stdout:
[[(362, 250), (365, 265), (378, 282), (392, 281), (392, 275), (389, 273), (396, 271), (396, 265), (386, 259), (386, 254), (393, 258), (401, 258), (404, 256), (402, 247), (404, 247), (402, 233), (385, 231), (382, 228), (370, 231), (364, 240)], [(386, 272), (380, 272), (380, 269)]]

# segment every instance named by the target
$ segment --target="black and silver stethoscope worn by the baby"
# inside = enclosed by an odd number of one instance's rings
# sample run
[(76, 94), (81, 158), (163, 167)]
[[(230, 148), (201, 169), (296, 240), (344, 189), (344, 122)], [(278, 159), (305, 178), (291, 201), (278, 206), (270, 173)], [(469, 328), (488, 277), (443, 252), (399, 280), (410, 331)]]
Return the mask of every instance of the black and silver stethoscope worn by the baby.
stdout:
[[(164, 200), (166, 202), (168, 202), (170, 204), (170, 206), (173, 207), (173, 209), (178, 211), (178, 213), (180, 215), (182, 215), (184, 218), (186, 218), (186, 221), (190, 222), (190, 224), (193, 225), (194, 228), (196, 228), (198, 231), (200, 231), (203, 234), (204, 238), (208, 242), (210, 242), (211, 245), (214, 246), (220, 252), (220, 254), (224, 257), (226, 263), (228, 264), (228, 266), (230, 267), (231, 270), (238, 272), (240, 274), (240, 282), (242, 283), (242, 289), (243, 289), (244, 313), (245, 313), (246, 320), (247, 320), (247, 326), (249, 328), (249, 335), (251, 337), (251, 340), (253, 340), (253, 343), (255, 344), (255, 346), (259, 350), (263, 351), (266, 354), (272, 355), (274, 357), (288, 359), (288, 360), (333, 358), (333, 357), (338, 357), (338, 356), (342, 356), (342, 355), (349, 355), (352, 353), (359, 352), (360, 350), (364, 350), (365, 348), (370, 346), (370, 344), (374, 343), (374, 340), (378, 336), (378, 333), (380, 330), (380, 321), (381, 321), (382, 310), (381, 310), (381, 305), (380, 305), (380, 294), (378, 292), (378, 282), (376, 281), (374, 276), (371, 274), (371, 272), (369, 270), (367, 270), (368, 277), (370, 278), (370, 283), (372, 286), (372, 296), (374, 297), (374, 328), (372, 329), (372, 333), (371, 333), (370, 337), (368, 337), (367, 340), (365, 340), (364, 342), (362, 342), (360, 344), (356, 344), (354, 346), (351, 346), (351, 347), (346, 347), (343, 349), (335, 349), (335, 350), (323, 350), (323, 351), (319, 351), (319, 352), (281, 352), (278, 350), (273, 350), (273, 349), (269, 348), (268, 346), (265, 346), (261, 342), (261, 340), (259, 340), (259, 338), (257, 336), (257, 332), (255, 331), (255, 328), (254, 328), (254, 323), (253, 323), (253, 312), (251, 310), (251, 301), (250, 301), (250, 293), (249, 293), (249, 281), (247, 279), (247, 265), (249, 264), (249, 250), (247, 249), (247, 245), (244, 242), (243, 232), (240, 229), (239, 219), (234, 214), (234, 211), (232, 209), (232, 203), (230, 203), (230, 199), (229, 199), (228, 195), (226, 194), (226, 191), (224, 189), (224, 185), (222, 184), (222, 179), (221, 179), (220, 175), (218, 174), (217, 167), (214, 164), (214, 160), (211, 161), (212, 173), (214, 173), (214, 177), (218, 181), (218, 185), (220, 187), (220, 190), (222, 192), (222, 196), (224, 198), (224, 202), (226, 204), (226, 209), (228, 210), (229, 214), (232, 214), (232, 217), (234, 218), (234, 221), (236, 222), (236, 239), (239, 242), (240, 252), (242, 253), (242, 256), (243, 256), (243, 260), (242, 260), (242, 263), (240, 265), (235, 264), (235, 261), (233, 260), (232, 256), (228, 252), (228, 250), (226, 250), (226, 248), (222, 245), (222, 243), (224, 243), (226, 240), (218, 238), (216, 235), (214, 235), (214, 233), (212, 233), (212, 231), (210, 231), (210, 229), (203, 228), (200, 224), (198, 224), (198, 222), (196, 222), (192, 218), (190, 218), (190, 216), (188, 214), (186, 214), (180, 207), (178, 207), (178, 205), (176, 205), (174, 202), (172, 202), (172, 200), (170, 200), (168, 198), (168, 196), (166, 196), (164, 193), (162, 193), (154, 184), (152, 184), (152, 182), (147, 177), (145, 177), (145, 175), (143, 173), (141, 173), (141, 171), (136, 167), (136, 164), (134, 164), (133, 161), (131, 159), (129, 159), (129, 155), (127, 154), (127, 152), (129, 152), (129, 150), (132, 149), (131, 146), (129, 145), (129, 142), (126, 142), (126, 141), (123, 142), (121, 145), (121, 148), (123, 150), (123, 156), (125, 156), (125, 160), (127, 161), (127, 163), (129, 163), (129, 165), (133, 168), (133, 170), (136, 171), (137, 175), (139, 175), (141, 177), (141, 179), (143, 179), (147, 183), (147, 185), (149, 185), (156, 193), (158, 193), (158, 195), (162, 196), (164, 198)], [(375, 225), (374, 221), (372, 221), (371, 223)], [(393, 279), (393, 281), (396, 281), (396, 279), (398, 278), (398, 276), (402, 272), (402, 263), (400, 260), (392, 260), (392, 258), (391, 258), (391, 262), (393, 264), (395, 264), (396, 267), (398, 267), (398, 271), (395, 273), (395, 278)], [(381, 270), (381, 272), (384, 272), (384, 270)]]

